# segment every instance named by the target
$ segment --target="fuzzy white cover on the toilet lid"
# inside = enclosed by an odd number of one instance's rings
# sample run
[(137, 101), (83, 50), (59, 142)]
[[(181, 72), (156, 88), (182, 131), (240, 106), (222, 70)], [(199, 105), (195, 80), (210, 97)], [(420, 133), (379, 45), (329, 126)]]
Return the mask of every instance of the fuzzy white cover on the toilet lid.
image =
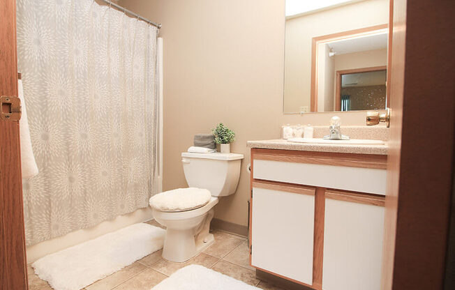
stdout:
[(177, 188), (155, 194), (149, 203), (158, 211), (189, 211), (206, 205), (210, 198), (210, 191), (203, 188)]

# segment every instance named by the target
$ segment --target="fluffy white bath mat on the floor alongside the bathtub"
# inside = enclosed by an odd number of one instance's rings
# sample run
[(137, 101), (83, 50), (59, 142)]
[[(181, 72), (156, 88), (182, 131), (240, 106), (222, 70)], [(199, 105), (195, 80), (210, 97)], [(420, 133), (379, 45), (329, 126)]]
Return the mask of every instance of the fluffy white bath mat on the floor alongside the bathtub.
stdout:
[(35, 261), (35, 273), (55, 290), (79, 290), (163, 247), (165, 230), (133, 224)]

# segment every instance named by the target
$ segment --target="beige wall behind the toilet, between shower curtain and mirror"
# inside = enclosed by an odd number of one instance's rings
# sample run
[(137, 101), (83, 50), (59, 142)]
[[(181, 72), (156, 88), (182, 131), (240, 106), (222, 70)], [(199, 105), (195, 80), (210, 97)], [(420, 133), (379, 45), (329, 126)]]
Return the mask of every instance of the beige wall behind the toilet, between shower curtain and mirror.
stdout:
[[(164, 42), (164, 190), (186, 187), (180, 154), (193, 135), (218, 122), (234, 130), (231, 150), (245, 154), (236, 194), (216, 217), (247, 224), (247, 140), (277, 139), (283, 123), (328, 125), (333, 113), (283, 114), (284, 0), (123, 0), (161, 22)], [(343, 125), (364, 112), (338, 113)]]

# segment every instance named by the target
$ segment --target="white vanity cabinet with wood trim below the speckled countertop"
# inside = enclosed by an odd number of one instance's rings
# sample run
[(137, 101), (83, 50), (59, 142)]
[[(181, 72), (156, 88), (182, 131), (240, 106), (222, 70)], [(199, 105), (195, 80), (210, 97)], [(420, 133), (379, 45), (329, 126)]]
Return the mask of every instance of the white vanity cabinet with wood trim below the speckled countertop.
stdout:
[(251, 266), (313, 289), (380, 289), (387, 155), (251, 149)]

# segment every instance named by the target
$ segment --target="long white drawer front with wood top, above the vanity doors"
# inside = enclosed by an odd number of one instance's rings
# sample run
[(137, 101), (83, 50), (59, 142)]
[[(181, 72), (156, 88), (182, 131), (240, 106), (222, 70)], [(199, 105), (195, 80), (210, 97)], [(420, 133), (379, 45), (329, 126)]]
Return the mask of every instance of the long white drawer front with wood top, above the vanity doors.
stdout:
[(386, 170), (276, 160), (253, 160), (253, 178), (385, 194)]

